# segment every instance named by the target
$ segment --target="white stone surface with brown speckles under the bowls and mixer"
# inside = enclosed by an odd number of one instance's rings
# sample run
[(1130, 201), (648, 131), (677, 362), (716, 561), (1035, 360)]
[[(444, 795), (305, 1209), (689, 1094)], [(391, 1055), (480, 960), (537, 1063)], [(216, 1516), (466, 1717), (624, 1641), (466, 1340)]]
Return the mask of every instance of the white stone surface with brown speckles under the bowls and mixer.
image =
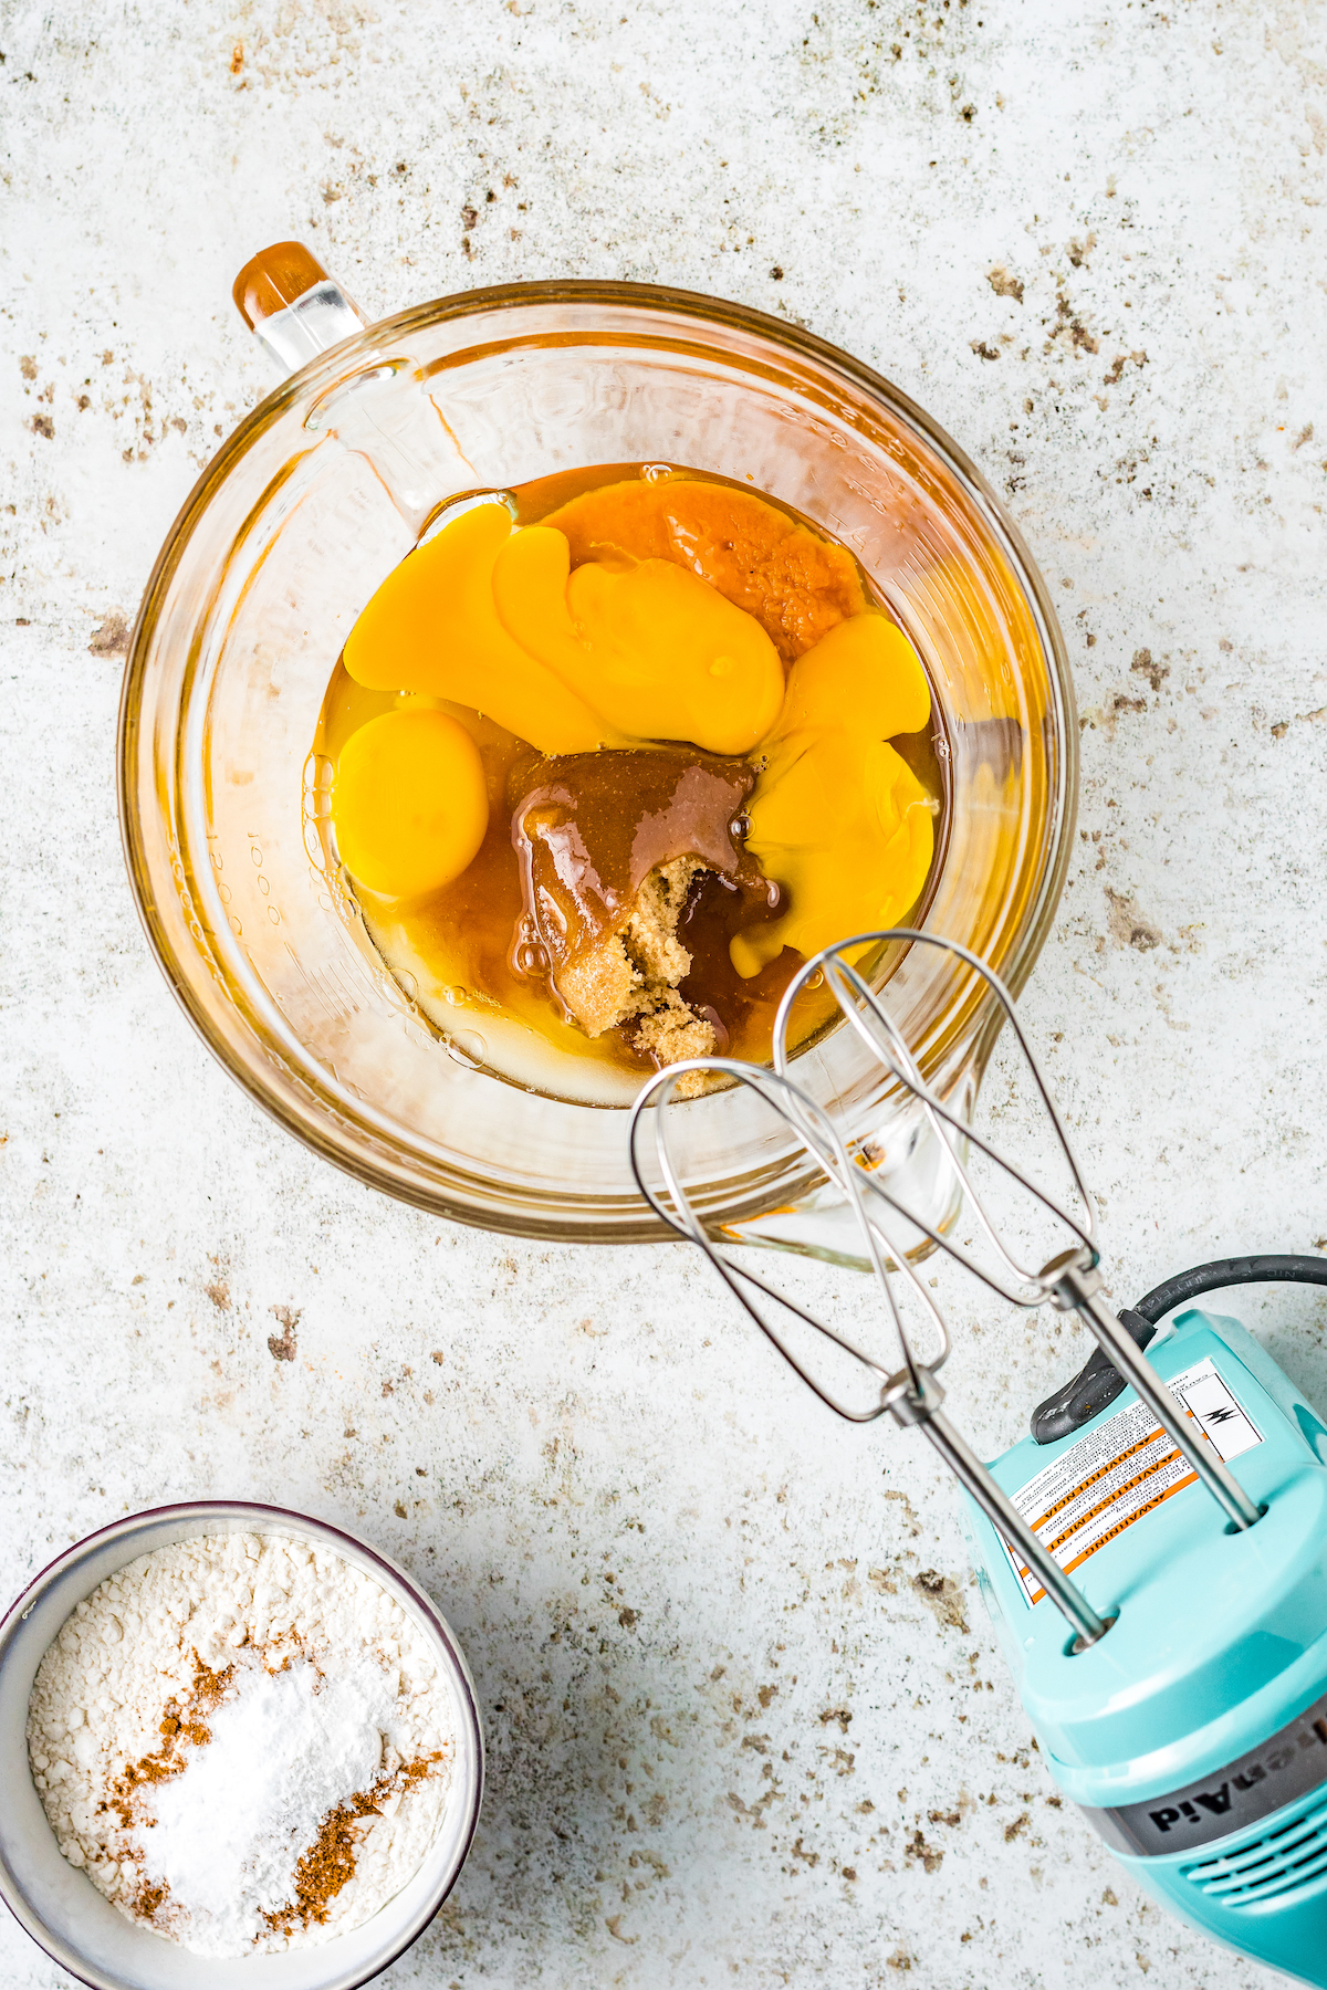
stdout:
[[(1086, 718), (1027, 1009), (1128, 1299), (1327, 1232), (1325, 20), (0, 6), (0, 1586), (209, 1492), (346, 1520), (430, 1584), (491, 1781), (454, 1900), (384, 1984), (1271, 1978), (1054, 1805), (983, 1618), (913, 1588), (939, 1570), (975, 1600), (919, 1443), (820, 1413), (680, 1252), (376, 1200), (193, 1039), (121, 870), (115, 617), (267, 392), (229, 281), (298, 235), (370, 314), (561, 273), (736, 297), (977, 458)], [(1007, 1091), (1001, 1065), (989, 1104)], [(1323, 1303), (1237, 1309), (1327, 1401)], [(1082, 1341), (971, 1299), (959, 1321), (955, 1411), (993, 1451)], [(70, 1980), (8, 1922), (0, 1978)]]

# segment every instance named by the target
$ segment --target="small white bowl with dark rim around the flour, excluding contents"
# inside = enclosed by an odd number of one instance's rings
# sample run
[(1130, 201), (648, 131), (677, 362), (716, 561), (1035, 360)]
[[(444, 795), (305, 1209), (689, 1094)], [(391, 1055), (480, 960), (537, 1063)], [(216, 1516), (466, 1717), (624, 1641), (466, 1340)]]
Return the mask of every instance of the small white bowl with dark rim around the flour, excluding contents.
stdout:
[[(28, 1767), (28, 1697), (42, 1656), (76, 1604), (153, 1548), (201, 1534), (283, 1534), (340, 1554), (372, 1576), (428, 1638), (452, 1695), (452, 1789), (424, 1865), (370, 1920), (318, 1948), (215, 1960), (125, 1920), (68, 1863)], [(356, 1990), (424, 1932), (466, 1863), (483, 1795), (474, 1684), (452, 1630), (404, 1568), (336, 1526), (284, 1506), (199, 1500), (135, 1512), (90, 1534), (24, 1590), (0, 1622), (0, 1896), (48, 1956), (92, 1990)]]

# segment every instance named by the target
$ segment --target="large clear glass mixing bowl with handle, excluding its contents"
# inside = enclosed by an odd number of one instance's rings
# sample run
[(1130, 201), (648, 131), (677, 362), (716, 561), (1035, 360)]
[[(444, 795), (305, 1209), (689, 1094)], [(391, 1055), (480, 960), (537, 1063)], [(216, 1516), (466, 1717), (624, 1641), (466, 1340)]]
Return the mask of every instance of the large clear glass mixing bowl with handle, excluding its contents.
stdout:
[[(328, 866), (330, 768), (310, 752), (348, 629), (438, 507), (585, 464), (750, 484), (857, 555), (943, 710), (949, 828), (923, 919), (1023, 985), (1072, 836), (1072, 685), (1027, 547), (921, 408), (798, 326), (645, 285), (509, 285), (372, 326), (330, 281), (292, 308), (279, 297), (267, 322), (245, 295), (269, 350), (302, 364), (241, 422), (161, 549), (125, 671), (119, 792), (157, 959), (283, 1126), (460, 1222), (664, 1234), (631, 1178), (625, 1110), (503, 1081), (472, 1017), (438, 1031), (384, 969)], [(931, 947), (879, 971), (927, 1079), (971, 1108), (999, 1029), (981, 985)], [(933, 1138), (848, 1029), (802, 1053), (798, 1079), (935, 1222), (953, 1214)], [(855, 1260), (824, 1178), (746, 1087), (668, 1110), (710, 1220)]]

